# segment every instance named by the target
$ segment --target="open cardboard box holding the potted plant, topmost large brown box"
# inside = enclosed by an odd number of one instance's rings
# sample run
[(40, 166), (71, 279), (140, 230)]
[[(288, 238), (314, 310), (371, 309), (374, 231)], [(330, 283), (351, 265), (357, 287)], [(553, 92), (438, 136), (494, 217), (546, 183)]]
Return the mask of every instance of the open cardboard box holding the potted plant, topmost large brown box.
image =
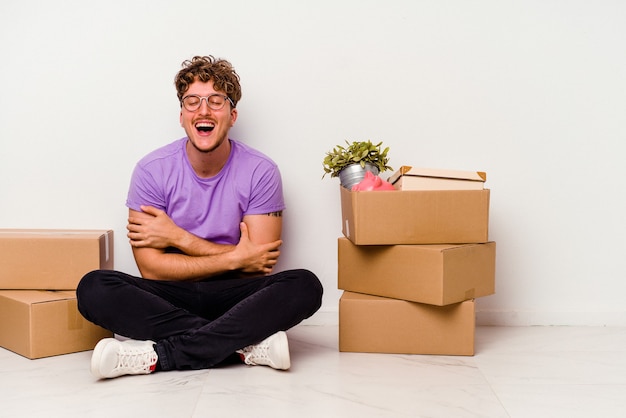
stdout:
[(342, 232), (357, 245), (487, 242), (489, 189), (341, 189)]

